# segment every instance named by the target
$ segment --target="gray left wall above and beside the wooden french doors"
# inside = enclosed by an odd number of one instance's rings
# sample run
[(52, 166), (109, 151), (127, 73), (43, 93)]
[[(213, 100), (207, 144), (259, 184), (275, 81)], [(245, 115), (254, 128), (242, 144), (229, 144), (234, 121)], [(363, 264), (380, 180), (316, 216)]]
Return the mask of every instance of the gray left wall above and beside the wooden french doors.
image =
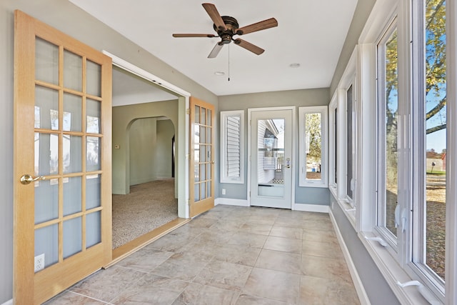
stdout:
[[(75, 39), (106, 50), (169, 81), (199, 99), (217, 105), (217, 96), (171, 66), (152, 56), (121, 34), (66, 0), (0, 1), (0, 304), (11, 299), (13, 286), (13, 59), (14, 10), (20, 9)], [(217, 106), (216, 106), (217, 111)], [(217, 150), (217, 148), (216, 148)], [(219, 154), (219, 151), (217, 151)], [(183, 160), (184, 162), (184, 160)]]

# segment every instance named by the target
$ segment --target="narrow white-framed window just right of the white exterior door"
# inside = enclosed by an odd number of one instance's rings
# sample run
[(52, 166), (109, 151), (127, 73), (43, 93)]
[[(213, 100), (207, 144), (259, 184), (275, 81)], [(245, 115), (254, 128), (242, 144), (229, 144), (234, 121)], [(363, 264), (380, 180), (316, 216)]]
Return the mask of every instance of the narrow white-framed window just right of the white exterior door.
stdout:
[(300, 107), (300, 186), (327, 187), (327, 106)]

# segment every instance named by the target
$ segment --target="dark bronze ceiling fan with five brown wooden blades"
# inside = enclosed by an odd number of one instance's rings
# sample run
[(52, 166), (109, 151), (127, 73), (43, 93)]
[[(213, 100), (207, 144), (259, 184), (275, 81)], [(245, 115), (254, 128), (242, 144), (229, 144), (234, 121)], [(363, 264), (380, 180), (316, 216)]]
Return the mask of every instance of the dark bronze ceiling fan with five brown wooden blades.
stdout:
[(221, 16), (216, 9), (216, 6), (211, 3), (204, 3), (203, 5), (206, 12), (209, 14), (211, 19), (214, 22), (213, 28), (217, 32), (217, 35), (214, 34), (173, 34), (174, 37), (220, 37), (221, 41), (219, 41), (216, 46), (214, 46), (213, 50), (209, 54), (208, 58), (212, 59), (219, 54), (224, 44), (230, 44), (233, 41), (234, 44), (241, 46), (242, 48), (253, 52), (254, 54), (260, 55), (265, 51), (260, 47), (251, 44), (248, 41), (245, 41), (241, 38), (233, 39), (234, 35), (244, 35), (248, 33), (252, 33), (254, 31), (261, 31), (264, 29), (273, 28), (278, 26), (278, 21), (274, 18), (266, 19), (260, 22), (256, 22), (255, 24), (250, 24), (248, 26), (239, 27), (238, 21), (231, 16)]

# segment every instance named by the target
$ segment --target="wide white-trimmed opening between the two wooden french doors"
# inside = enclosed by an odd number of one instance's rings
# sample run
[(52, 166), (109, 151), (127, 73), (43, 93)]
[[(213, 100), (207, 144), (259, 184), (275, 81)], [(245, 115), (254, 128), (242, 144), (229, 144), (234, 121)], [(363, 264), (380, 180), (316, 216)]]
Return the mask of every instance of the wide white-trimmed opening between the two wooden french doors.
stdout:
[[(179, 137), (178, 131), (185, 135), (188, 129), (183, 121), (189, 120), (182, 114), (185, 114), (190, 94), (160, 79), (156, 81), (155, 76), (116, 56), (113, 56), (113, 63), (113, 245), (116, 248), (113, 259), (116, 261), (150, 242), (154, 231), (159, 230), (159, 234), (164, 234), (188, 218), (189, 211), (183, 209), (183, 198), (188, 192), (186, 184), (189, 181), (184, 174), (188, 166), (181, 160), (189, 150), (186, 149), (189, 140), (184, 139), (184, 136)], [(181, 124), (179, 116), (184, 119)], [(173, 139), (174, 146), (171, 146)], [(146, 143), (150, 145), (144, 145)], [(173, 151), (176, 156), (174, 160)], [(116, 209), (119, 197), (122, 209)], [(124, 231), (139, 237), (126, 239), (126, 244), (125, 241), (118, 243), (115, 241), (115, 231), (119, 229), (116, 228), (119, 225), (117, 218), (123, 217), (116, 213), (134, 207), (131, 200), (137, 203), (144, 201), (141, 209), (148, 206), (149, 201), (155, 201), (155, 204), (171, 203), (173, 215), (165, 218), (165, 221), (159, 221), (159, 225), (164, 222), (166, 224), (153, 228), (151, 232), (148, 227), (156, 226), (156, 218), (163, 216), (160, 211), (156, 210), (149, 215), (139, 208), (133, 213), (129, 211), (130, 217), (136, 213), (133, 222), (139, 226), (126, 226)], [(147, 221), (140, 221), (139, 214), (145, 214)], [(130, 234), (132, 231), (137, 231), (136, 235)]]

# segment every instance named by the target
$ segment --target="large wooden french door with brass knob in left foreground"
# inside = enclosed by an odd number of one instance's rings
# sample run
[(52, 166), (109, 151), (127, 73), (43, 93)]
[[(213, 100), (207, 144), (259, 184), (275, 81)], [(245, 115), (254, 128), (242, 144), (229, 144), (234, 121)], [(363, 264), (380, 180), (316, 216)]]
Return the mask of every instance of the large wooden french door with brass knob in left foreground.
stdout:
[(111, 58), (15, 12), (14, 302), (111, 261)]

